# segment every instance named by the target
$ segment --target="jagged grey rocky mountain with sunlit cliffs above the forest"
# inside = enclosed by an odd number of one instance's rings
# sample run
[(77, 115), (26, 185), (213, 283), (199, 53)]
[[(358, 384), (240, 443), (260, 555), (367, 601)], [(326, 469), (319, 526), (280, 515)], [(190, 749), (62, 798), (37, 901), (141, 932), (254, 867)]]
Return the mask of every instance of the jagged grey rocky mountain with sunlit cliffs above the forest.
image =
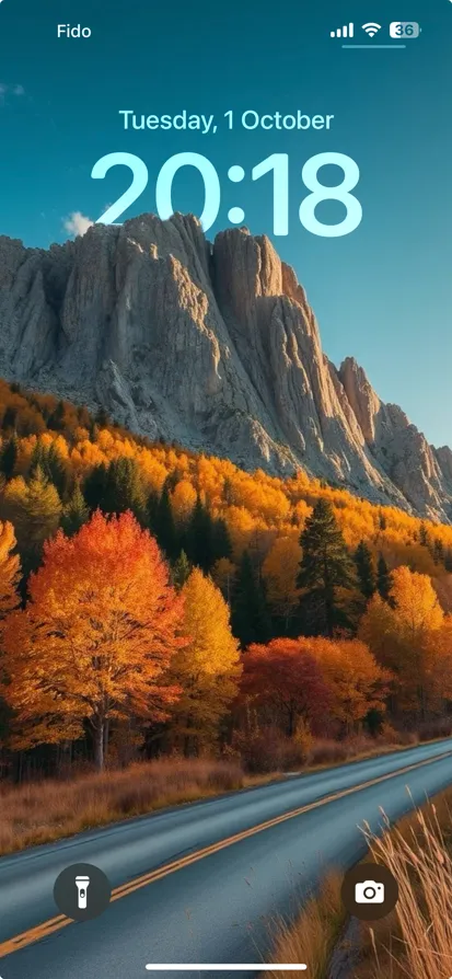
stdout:
[(141, 215), (26, 249), (0, 237), (0, 373), (151, 438), (452, 519), (452, 452), (322, 352), (303, 288), (246, 229)]

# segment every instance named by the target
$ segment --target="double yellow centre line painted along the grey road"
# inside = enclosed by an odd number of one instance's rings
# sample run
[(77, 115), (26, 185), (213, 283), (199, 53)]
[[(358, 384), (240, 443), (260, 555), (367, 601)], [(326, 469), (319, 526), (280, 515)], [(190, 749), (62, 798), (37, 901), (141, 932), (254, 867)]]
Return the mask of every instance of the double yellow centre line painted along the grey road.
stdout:
[[(434, 758), (427, 758), (424, 761), (415, 761), (412, 764), (405, 765), (403, 769), (397, 769), (395, 772), (387, 772), (385, 775), (379, 775), (376, 779), (371, 779), (369, 782), (361, 782), (360, 785), (352, 785), (350, 788), (343, 788), (341, 792), (335, 792), (332, 793), (332, 795), (323, 796), (323, 798), (316, 799), (314, 803), (299, 806), (297, 809), (291, 809), (290, 813), (275, 816), (273, 819), (267, 819), (265, 822), (252, 826), (250, 829), (234, 833), (232, 837), (227, 837), (224, 840), (219, 840), (217, 843), (211, 843), (209, 846), (204, 846), (201, 850), (188, 853), (186, 856), (182, 856), (178, 860), (164, 864), (157, 871), (150, 871), (148, 874), (142, 874), (140, 877), (136, 877), (134, 880), (123, 884), (120, 887), (115, 887), (112, 891), (112, 901), (117, 901), (119, 898), (127, 897), (128, 894), (134, 894), (134, 891), (139, 890), (141, 887), (147, 887), (155, 880), (161, 880), (162, 877), (166, 877), (169, 874), (174, 874), (176, 871), (182, 871), (183, 867), (190, 866), (190, 864), (197, 863), (198, 860), (204, 860), (205, 856), (210, 856), (212, 853), (218, 853), (227, 846), (232, 846), (233, 843), (240, 843), (241, 840), (246, 840), (248, 837), (255, 836), (255, 833), (264, 832), (264, 830), (271, 829), (274, 826), (279, 826), (288, 819), (295, 819), (304, 813), (311, 813), (313, 809), (326, 806), (328, 803), (335, 802), (336, 799), (345, 798), (345, 796), (352, 795), (355, 792), (361, 792), (364, 788), (371, 788), (372, 785), (387, 782), (390, 779), (404, 775), (407, 772), (414, 771), (414, 769), (420, 769), (424, 765), (441, 761), (441, 759), (448, 758), (451, 755), (452, 750), (444, 751), (442, 755), (437, 755)], [(27, 931), (22, 932), (20, 935), (15, 935), (13, 938), (8, 938), (0, 944), (0, 958), (3, 958), (5, 955), (11, 955), (11, 953), (18, 952), (20, 948), (24, 948), (26, 945), (31, 945), (34, 942), (46, 938), (48, 935), (60, 931), (68, 924), (73, 924), (72, 919), (66, 918), (65, 914), (58, 914), (56, 918), (50, 918), (48, 921), (44, 921), (35, 928), (27, 929)]]

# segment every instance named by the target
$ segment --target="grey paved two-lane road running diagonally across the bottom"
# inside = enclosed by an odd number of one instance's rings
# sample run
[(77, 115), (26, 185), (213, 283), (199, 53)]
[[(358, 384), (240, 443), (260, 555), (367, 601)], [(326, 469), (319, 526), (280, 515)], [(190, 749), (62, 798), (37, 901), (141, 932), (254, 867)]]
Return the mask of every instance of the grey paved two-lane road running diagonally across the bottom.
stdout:
[[(451, 753), (441, 757), (444, 752)], [(403, 771), (422, 761), (428, 763)], [(383, 781), (340, 795), (379, 779)], [(290, 914), (326, 867), (346, 867), (362, 855), (358, 826), (364, 819), (376, 828), (379, 806), (392, 819), (406, 813), (412, 807), (407, 785), (415, 803), (421, 803), (426, 794), (432, 795), (449, 784), (452, 741), (448, 739), (2, 857), (0, 955), (4, 957), (0, 958), (0, 976), (175, 979), (174, 971), (147, 971), (149, 963), (256, 963), (258, 969), (268, 951), (273, 917), (277, 912)], [(232, 845), (129, 892), (111, 903), (101, 918), (72, 923), (4, 955), (9, 946), (2, 943), (56, 915), (54, 883), (70, 864), (96, 864), (118, 887), (315, 803), (301, 815), (247, 833)], [(195, 979), (199, 972), (194, 969), (184, 976)]]

